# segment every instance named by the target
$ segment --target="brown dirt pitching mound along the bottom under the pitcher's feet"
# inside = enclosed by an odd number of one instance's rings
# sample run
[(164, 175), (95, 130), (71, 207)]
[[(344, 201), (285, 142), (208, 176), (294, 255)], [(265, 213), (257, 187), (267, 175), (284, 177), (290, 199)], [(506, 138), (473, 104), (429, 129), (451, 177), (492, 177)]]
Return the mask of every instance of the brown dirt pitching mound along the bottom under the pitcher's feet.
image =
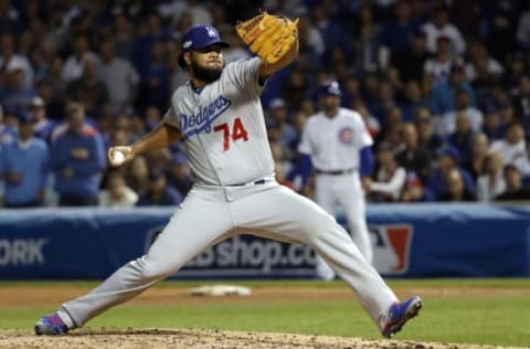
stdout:
[(473, 345), (372, 340), (363, 338), (304, 336), (268, 332), (220, 331), (205, 329), (91, 329), (75, 330), (65, 336), (38, 337), (30, 330), (0, 330), (0, 348), (414, 348), (414, 349), (485, 349)]

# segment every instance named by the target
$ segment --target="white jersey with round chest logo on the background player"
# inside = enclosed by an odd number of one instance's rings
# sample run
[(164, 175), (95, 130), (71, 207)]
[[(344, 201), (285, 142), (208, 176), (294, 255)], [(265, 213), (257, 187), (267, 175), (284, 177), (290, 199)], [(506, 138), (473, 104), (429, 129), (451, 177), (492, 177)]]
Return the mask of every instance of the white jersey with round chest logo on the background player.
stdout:
[(322, 112), (309, 117), (298, 151), (310, 155), (314, 166), (320, 170), (359, 169), (359, 150), (372, 144), (359, 113), (339, 108), (332, 118)]

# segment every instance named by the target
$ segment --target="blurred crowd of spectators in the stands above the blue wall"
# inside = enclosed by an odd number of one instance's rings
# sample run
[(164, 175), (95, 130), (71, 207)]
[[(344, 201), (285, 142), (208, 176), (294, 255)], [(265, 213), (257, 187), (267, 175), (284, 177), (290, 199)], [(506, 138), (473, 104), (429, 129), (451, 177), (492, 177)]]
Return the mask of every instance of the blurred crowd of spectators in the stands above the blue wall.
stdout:
[(106, 149), (163, 118), (186, 29), (246, 59), (234, 24), (259, 9), (299, 18), (299, 56), (262, 96), (280, 182), (297, 188), (300, 131), (336, 80), (375, 141), (370, 201), (530, 199), (528, 1), (0, 0), (2, 205), (180, 203), (182, 144), (117, 169)]

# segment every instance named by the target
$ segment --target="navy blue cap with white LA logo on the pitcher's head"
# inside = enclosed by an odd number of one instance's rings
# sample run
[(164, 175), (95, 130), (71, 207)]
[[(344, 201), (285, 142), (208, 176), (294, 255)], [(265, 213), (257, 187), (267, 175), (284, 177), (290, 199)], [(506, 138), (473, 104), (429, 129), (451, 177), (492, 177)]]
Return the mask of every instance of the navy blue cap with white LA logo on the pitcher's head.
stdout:
[(208, 24), (197, 24), (188, 29), (180, 39), (180, 49), (182, 53), (179, 56), (179, 65), (186, 66), (183, 52), (188, 50), (203, 49), (213, 44), (219, 44), (221, 47), (230, 47), (230, 44), (221, 40), (215, 28)]

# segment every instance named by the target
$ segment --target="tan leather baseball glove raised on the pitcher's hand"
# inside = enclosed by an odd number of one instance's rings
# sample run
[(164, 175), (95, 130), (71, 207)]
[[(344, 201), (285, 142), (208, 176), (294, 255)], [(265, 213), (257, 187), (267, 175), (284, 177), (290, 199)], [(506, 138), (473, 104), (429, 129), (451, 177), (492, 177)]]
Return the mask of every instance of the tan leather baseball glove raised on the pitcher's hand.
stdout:
[(278, 62), (298, 40), (298, 19), (292, 21), (286, 17), (267, 12), (239, 22), (235, 25), (237, 35), (265, 62)]

